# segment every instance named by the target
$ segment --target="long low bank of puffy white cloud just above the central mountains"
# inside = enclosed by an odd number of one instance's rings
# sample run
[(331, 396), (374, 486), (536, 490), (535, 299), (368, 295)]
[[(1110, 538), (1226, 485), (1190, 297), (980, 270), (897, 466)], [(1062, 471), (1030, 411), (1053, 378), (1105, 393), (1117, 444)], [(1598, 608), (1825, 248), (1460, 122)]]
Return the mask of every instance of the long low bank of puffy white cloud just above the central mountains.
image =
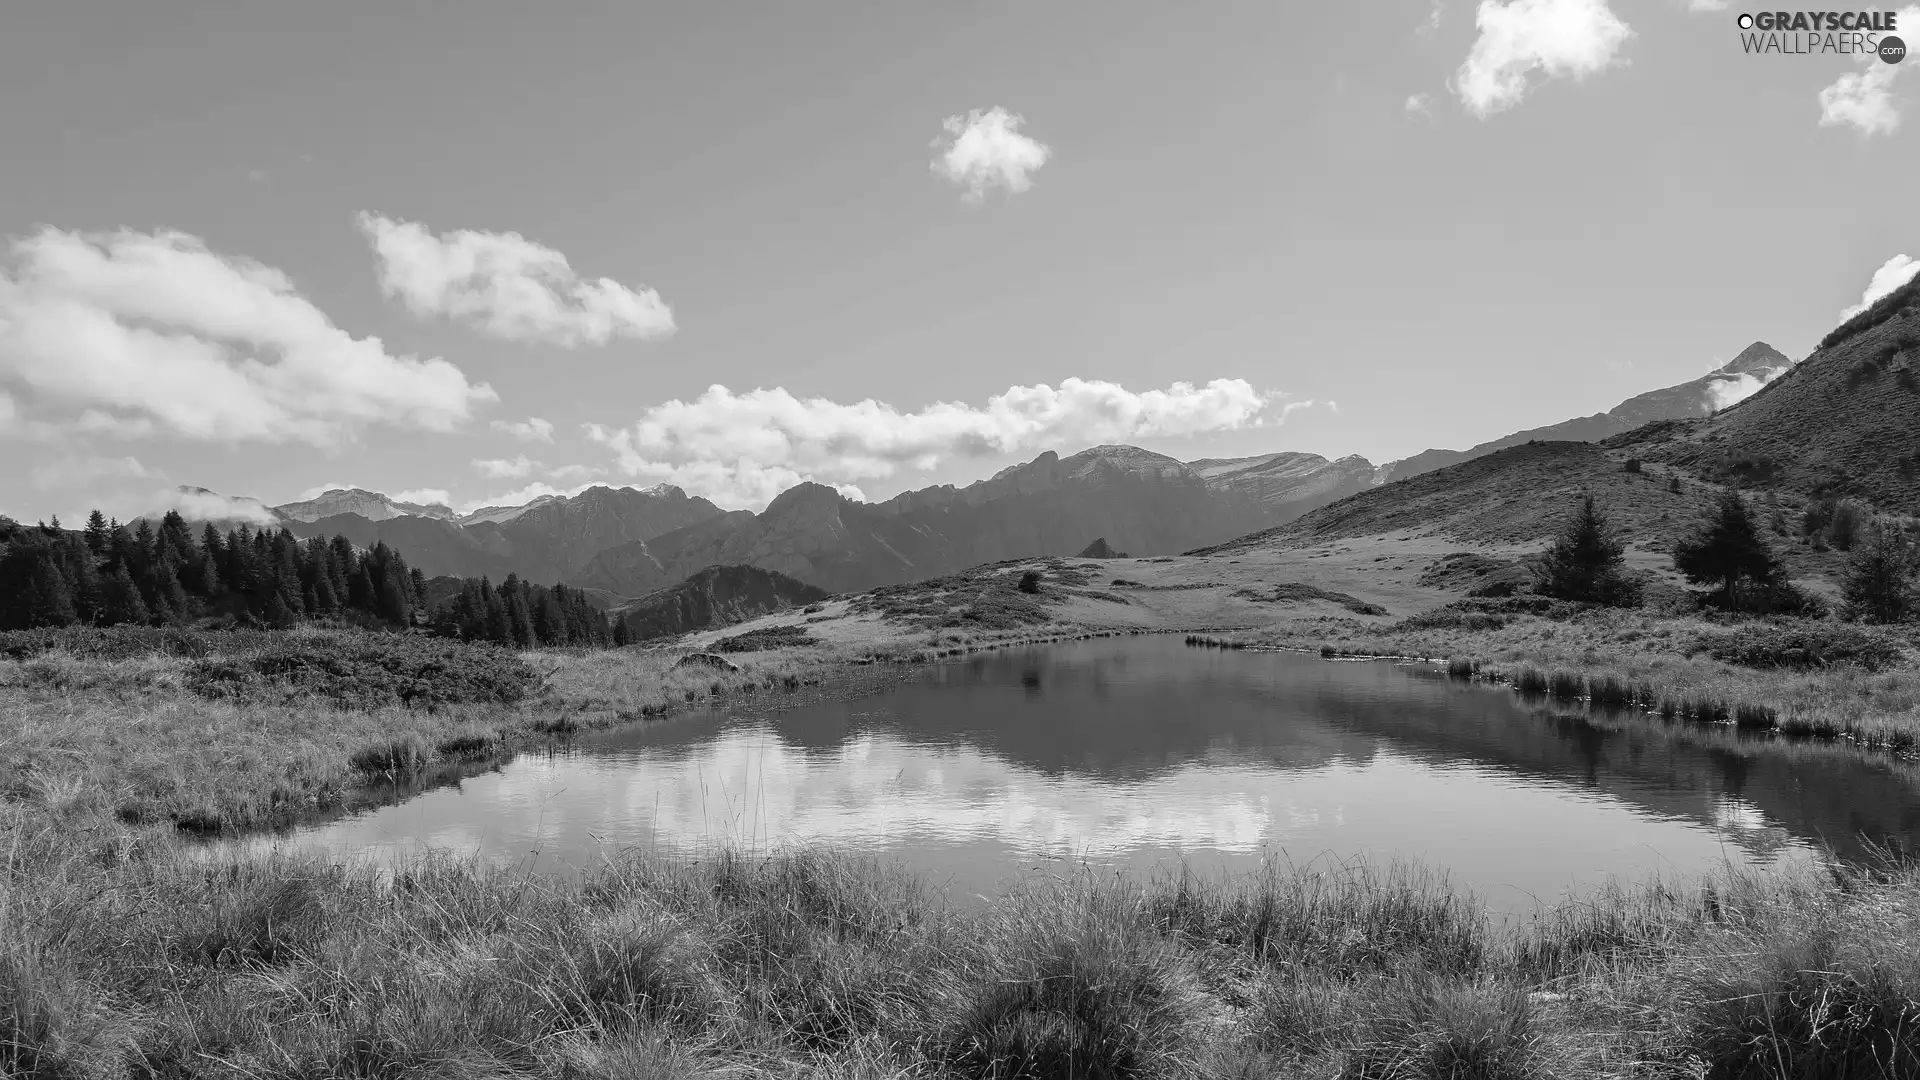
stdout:
[(801, 480), (852, 484), (954, 457), (1279, 425), (1309, 404), (1283, 398), (1240, 379), (1146, 392), (1066, 379), (1060, 388), (1012, 386), (985, 405), (935, 402), (908, 413), (872, 398), (839, 404), (778, 386), (745, 394), (708, 386), (691, 402), (653, 405), (624, 429), (586, 425), (586, 434), (630, 477), (755, 505)]

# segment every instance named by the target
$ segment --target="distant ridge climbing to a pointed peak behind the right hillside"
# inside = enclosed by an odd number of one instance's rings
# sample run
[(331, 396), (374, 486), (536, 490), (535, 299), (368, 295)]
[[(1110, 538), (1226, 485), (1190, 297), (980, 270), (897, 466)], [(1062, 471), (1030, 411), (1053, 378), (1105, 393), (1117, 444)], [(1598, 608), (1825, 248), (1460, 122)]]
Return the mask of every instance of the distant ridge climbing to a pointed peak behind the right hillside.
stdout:
[(1432, 473), (1434, 469), (1446, 469), (1448, 465), (1486, 457), (1496, 450), (1507, 450), (1509, 446), (1521, 446), (1526, 442), (1599, 442), (1653, 421), (1703, 417), (1715, 409), (1728, 407), (1741, 398), (1751, 396), (1766, 382), (1780, 379), (1791, 367), (1793, 361), (1774, 346), (1766, 342), (1753, 342), (1732, 361), (1690, 382), (1638, 394), (1605, 413), (1517, 430), (1513, 434), (1482, 442), (1471, 450), (1427, 450), (1423, 454), (1415, 454), (1413, 457), (1382, 465), (1380, 480), (1405, 480), (1407, 477), (1419, 477), (1421, 473)]

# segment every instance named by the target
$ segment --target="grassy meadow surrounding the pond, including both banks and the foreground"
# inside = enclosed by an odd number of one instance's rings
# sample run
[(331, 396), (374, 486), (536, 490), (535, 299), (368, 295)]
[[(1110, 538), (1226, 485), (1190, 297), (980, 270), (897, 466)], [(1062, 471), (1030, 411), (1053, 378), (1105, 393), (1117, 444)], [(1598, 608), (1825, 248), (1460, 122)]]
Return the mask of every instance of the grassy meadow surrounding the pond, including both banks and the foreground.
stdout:
[[(1908, 667), (1741, 667), (1690, 653), (1728, 626), (1640, 619), (1304, 613), (1260, 638), (1912, 713)], [(1505, 924), (1411, 865), (1033, 874), (948, 905), (902, 867), (806, 847), (622, 851), (578, 876), (198, 849), (593, 726), (1108, 632), (868, 630), (724, 667), (317, 628), (10, 636), (0, 1076), (1920, 1074), (1920, 871), (1891, 857), (1620, 884)]]

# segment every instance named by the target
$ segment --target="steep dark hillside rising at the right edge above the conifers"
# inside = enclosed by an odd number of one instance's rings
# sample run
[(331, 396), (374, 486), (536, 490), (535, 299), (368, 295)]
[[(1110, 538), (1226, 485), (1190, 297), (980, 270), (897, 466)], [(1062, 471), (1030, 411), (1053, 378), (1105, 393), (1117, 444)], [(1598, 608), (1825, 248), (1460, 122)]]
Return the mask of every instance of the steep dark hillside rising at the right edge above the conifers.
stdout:
[(1740, 405), (1607, 446), (1716, 480), (1920, 511), (1920, 279)]

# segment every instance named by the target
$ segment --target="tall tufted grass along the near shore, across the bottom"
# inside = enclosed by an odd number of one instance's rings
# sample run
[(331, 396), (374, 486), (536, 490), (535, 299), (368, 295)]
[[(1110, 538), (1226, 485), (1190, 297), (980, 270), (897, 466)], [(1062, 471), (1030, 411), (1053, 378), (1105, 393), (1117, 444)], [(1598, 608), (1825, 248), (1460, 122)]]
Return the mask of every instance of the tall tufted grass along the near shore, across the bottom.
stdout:
[(822, 851), (580, 876), (12, 822), (8, 1076), (1910, 1076), (1920, 878), (1724, 874), (1492, 924), (1409, 867), (1027, 876)]

